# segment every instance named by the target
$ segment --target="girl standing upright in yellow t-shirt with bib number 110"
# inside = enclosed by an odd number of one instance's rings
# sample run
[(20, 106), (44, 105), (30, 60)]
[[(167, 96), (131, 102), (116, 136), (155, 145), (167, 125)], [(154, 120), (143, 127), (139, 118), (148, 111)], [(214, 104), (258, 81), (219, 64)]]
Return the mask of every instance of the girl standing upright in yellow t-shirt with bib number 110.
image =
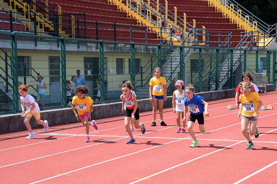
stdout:
[(159, 67), (154, 69), (155, 77), (149, 83), (149, 97), (153, 105), (153, 119), (151, 126), (156, 126), (157, 105), (159, 105), (159, 114), (161, 119), (161, 126), (167, 126), (163, 121), (163, 101), (167, 100), (167, 82), (161, 77), (162, 71)]

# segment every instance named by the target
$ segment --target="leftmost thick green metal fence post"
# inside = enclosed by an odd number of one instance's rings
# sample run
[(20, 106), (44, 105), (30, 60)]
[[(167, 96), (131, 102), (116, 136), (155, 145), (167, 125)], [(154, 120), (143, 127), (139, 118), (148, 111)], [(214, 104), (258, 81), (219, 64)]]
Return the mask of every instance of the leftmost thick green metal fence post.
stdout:
[(11, 69), (13, 79), (13, 113), (18, 113), (18, 62), (17, 62), (17, 35), (11, 36)]

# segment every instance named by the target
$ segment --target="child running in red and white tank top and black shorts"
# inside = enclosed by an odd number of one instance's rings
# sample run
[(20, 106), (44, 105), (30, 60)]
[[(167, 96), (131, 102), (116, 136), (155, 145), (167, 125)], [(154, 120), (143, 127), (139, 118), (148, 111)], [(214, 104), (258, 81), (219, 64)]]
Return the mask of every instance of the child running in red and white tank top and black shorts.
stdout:
[(130, 82), (126, 81), (122, 85), (122, 95), (120, 95), (120, 99), (122, 100), (122, 113), (124, 112), (124, 105), (126, 106), (125, 109), (125, 118), (124, 118), (124, 124), (126, 131), (128, 132), (130, 136), (130, 140), (126, 142), (126, 144), (132, 144), (135, 143), (134, 136), (132, 134), (132, 131), (130, 129), (130, 121), (134, 121), (135, 128), (140, 128), (141, 133), (145, 133), (144, 124), (139, 124), (139, 108), (138, 108), (138, 101), (134, 93), (131, 92), (133, 86)]

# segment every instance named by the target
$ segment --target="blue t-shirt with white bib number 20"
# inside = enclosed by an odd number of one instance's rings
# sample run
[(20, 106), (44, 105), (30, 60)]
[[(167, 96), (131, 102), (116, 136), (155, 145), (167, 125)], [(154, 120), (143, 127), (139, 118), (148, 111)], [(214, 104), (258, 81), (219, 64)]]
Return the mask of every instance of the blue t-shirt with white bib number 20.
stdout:
[(191, 114), (197, 115), (205, 111), (203, 101), (203, 97), (194, 94), (191, 100), (186, 97), (184, 100), (184, 104), (185, 106), (190, 107)]

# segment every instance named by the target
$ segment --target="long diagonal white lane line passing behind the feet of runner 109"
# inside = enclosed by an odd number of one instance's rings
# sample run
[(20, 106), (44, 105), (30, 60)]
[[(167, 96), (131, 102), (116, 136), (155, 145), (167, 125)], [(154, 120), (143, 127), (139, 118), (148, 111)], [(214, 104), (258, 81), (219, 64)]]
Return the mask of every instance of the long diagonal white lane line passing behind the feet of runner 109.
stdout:
[[(275, 130), (277, 130), (277, 128), (274, 129), (274, 130), (268, 131), (268, 132), (266, 132), (266, 133), (264, 133), (264, 134), (273, 132), (273, 131), (275, 131)], [(264, 134), (261, 134), (260, 136), (262, 136), (262, 135), (264, 135)], [(252, 137), (252, 138), (254, 138), (254, 137)], [(251, 138), (251, 139), (252, 139), (252, 138)], [(143, 181), (143, 180), (145, 180), (145, 179), (148, 179), (148, 178), (151, 178), (151, 177), (153, 177), (153, 176), (155, 176), (155, 175), (158, 175), (158, 174), (161, 174), (161, 173), (163, 173), (163, 172), (169, 171), (169, 170), (171, 170), (171, 169), (174, 169), (174, 168), (176, 168), (176, 167), (182, 166), (182, 165), (184, 165), (184, 164), (186, 164), (186, 163), (190, 163), (190, 162), (195, 161), (195, 160), (197, 160), (197, 159), (201, 159), (201, 158), (203, 158), (203, 157), (205, 157), (205, 156), (211, 155), (211, 154), (216, 153), (216, 152), (218, 152), (218, 151), (222, 151), (222, 150), (224, 150), (224, 149), (226, 149), (226, 148), (230, 148), (230, 147), (235, 146), (235, 145), (237, 145), (237, 144), (240, 144), (240, 143), (242, 143), (242, 142), (244, 142), (244, 140), (243, 140), (243, 141), (240, 141), (240, 142), (237, 142), (237, 143), (235, 143), (235, 144), (226, 146), (225, 148), (221, 148), (221, 149), (219, 149), (219, 150), (216, 150), (216, 151), (207, 153), (207, 154), (205, 154), (205, 155), (199, 156), (199, 157), (197, 157), (197, 158), (188, 160), (187, 162), (180, 163), (180, 164), (175, 165), (175, 166), (173, 166), (173, 167), (167, 168), (167, 169), (165, 169), (165, 170), (163, 170), (163, 171), (160, 171), (160, 172), (151, 174), (151, 175), (149, 175), (149, 176), (147, 176), (147, 177), (141, 178), (141, 179), (136, 180), (136, 181), (134, 181), (134, 182), (131, 182), (131, 183), (129, 183), (129, 184), (134, 184), (134, 183), (137, 183), (137, 182), (141, 182), (141, 181)], [(67, 172), (66, 174), (68, 174), (68, 173), (69, 173), (69, 172)], [(43, 181), (43, 180), (41, 180), (41, 181)]]

